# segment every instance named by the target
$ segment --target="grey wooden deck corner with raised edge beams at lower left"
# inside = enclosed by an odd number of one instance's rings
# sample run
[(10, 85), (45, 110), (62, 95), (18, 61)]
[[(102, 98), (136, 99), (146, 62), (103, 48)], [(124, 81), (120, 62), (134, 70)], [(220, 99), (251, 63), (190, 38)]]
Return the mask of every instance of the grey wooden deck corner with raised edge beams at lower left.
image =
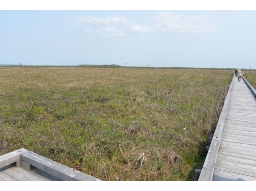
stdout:
[(19, 149), (0, 156), (0, 180), (99, 179), (26, 149)]

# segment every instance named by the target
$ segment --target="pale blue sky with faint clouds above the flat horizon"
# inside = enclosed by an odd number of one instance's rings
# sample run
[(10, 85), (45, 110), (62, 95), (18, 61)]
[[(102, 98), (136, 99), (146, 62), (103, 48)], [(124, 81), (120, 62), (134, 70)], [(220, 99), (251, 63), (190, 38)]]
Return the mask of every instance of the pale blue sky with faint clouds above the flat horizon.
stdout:
[(0, 11), (0, 64), (256, 69), (256, 11)]

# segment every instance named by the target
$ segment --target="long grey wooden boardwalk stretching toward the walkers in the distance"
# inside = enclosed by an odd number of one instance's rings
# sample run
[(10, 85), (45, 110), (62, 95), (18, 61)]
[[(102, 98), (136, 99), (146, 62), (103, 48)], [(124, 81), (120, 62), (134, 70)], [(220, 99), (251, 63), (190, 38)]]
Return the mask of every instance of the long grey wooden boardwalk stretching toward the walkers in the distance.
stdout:
[(233, 78), (199, 180), (256, 180), (255, 94)]

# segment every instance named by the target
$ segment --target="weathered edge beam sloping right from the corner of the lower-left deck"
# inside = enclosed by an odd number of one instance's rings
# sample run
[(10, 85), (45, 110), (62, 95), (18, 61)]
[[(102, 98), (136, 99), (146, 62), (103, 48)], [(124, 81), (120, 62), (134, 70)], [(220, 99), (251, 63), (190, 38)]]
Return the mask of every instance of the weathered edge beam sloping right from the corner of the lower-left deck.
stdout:
[(62, 180), (99, 180), (30, 151), (20, 154), (20, 159)]

